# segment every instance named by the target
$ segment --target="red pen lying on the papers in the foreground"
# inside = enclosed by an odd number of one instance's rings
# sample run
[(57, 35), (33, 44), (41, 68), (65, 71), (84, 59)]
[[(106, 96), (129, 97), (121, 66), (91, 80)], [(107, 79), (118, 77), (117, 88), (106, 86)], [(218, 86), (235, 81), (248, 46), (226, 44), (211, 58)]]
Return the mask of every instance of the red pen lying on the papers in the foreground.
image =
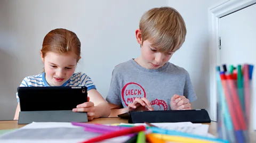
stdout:
[(102, 141), (102, 140), (105, 140), (105, 139), (124, 136), (126, 134), (131, 134), (131, 133), (139, 132), (139, 131), (146, 131), (146, 127), (144, 125), (139, 125), (139, 126), (135, 126), (135, 127), (132, 127), (132, 128), (119, 130), (119, 131), (113, 131), (113, 132), (110, 132), (110, 133), (102, 134), (101, 136), (98, 136), (98, 137), (95, 137), (95, 138), (91, 138), (91, 139), (83, 141), (81, 143), (90, 143), (90, 142)]

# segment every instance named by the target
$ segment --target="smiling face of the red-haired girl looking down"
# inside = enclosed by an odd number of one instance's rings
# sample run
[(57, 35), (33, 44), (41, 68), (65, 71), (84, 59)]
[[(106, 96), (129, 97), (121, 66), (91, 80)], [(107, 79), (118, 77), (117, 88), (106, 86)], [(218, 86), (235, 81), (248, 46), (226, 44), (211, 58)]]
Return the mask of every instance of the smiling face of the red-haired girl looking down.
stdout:
[(68, 81), (75, 72), (77, 55), (73, 52), (56, 54), (47, 52), (42, 56), (45, 69), (45, 79), (50, 86), (61, 86)]

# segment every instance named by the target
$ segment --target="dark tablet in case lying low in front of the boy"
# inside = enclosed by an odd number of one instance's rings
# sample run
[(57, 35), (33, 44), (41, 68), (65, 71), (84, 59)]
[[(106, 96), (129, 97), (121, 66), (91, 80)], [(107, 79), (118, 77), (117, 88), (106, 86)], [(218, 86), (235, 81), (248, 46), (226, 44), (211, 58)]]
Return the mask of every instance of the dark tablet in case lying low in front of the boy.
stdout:
[(129, 123), (192, 122), (210, 123), (208, 112), (202, 110), (131, 111), (118, 115)]

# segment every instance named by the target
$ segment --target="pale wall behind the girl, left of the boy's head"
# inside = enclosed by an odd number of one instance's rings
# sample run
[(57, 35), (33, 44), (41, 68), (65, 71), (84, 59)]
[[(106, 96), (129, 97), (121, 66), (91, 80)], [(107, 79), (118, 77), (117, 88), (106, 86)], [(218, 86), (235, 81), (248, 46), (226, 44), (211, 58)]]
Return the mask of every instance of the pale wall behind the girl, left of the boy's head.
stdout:
[(106, 97), (118, 63), (138, 57), (135, 39), (141, 15), (166, 6), (154, 1), (0, 1), (0, 120), (12, 120), (23, 78), (42, 71), (39, 51), (47, 32), (66, 28), (82, 43), (76, 71), (87, 73)]

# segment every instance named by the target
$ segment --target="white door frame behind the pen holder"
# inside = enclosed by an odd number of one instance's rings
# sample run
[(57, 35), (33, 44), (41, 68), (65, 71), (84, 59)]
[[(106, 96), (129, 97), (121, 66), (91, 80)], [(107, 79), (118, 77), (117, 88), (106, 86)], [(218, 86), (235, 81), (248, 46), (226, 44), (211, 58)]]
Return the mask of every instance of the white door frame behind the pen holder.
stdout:
[(210, 68), (210, 117), (212, 121), (217, 121), (217, 82), (216, 66), (219, 53), (219, 19), (230, 13), (244, 9), (247, 6), (255, 4), (256, 0), (226, 0), (211, 6), (208, 9), (209, 18), (209, 68)]

